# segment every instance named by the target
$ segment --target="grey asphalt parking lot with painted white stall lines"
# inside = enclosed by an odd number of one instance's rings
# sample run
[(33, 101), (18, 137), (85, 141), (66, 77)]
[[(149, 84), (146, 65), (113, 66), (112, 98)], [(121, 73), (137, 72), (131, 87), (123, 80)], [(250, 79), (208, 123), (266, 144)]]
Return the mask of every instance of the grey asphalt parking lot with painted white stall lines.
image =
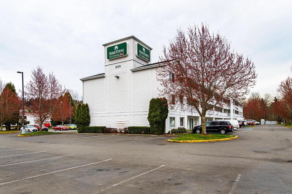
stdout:
[(291, 193), (292, 129), (246, 127), (238, 139), (0, 135), (0, 193)]

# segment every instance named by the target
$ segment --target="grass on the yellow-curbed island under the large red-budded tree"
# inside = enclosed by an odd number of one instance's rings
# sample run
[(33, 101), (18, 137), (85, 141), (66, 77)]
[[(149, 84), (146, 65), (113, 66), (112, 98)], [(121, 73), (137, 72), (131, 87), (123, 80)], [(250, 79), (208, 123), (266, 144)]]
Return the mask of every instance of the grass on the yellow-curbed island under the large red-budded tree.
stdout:
[(181, 137), (173, 138), (171, 140), (211, 140), (211, 139), (223, 139), (223, 138), (231, 138), (235, 137), (234, 135), (222, 135), (222, 134), (177, 134)]

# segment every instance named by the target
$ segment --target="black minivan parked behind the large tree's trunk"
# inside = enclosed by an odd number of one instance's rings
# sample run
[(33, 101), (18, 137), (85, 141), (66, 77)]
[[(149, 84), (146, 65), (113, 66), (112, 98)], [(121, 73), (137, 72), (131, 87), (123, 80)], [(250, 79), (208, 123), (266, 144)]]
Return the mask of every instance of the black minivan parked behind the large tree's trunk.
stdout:
[[(227, 134), (233, 131), (233, 125), (228, 121), (210, 121), (206, 122), (206, 132)], [(202, 125), (193, 127), (193, 133), (200, 134), (202, 132)]]

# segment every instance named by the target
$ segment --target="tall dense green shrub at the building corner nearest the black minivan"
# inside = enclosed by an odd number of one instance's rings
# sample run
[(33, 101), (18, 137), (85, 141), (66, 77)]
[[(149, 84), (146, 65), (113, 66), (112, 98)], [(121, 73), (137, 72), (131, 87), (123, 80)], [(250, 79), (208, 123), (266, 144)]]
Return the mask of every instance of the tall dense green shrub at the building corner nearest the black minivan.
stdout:
[(148, 121), (151, 134), (160, 135), (165, 131), (165, 120), (168, 115), (166, 98), (152, 98), (149, 104)]

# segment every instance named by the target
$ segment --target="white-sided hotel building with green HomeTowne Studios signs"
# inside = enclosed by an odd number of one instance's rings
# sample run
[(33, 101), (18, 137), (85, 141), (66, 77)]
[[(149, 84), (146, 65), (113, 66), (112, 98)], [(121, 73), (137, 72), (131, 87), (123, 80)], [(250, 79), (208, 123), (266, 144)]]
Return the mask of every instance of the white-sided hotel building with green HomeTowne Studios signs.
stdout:
[[(149, 126), (149, 102), (159, 96), (156, 69), (151, 63), (152, 48), (135, 36), (109, 42), (105, 47), (105, 72), (80, 79), (83, 82), (83, 102), (90, 110), (90, 126), (124, 128)], [(243, 119), (242, 105), (216, 108), (206, 115), (207, 121), (215, 119)], [(169, 109), (166, 133), (171, 128), (191, 129), (200, 125), (197, 111)]]

